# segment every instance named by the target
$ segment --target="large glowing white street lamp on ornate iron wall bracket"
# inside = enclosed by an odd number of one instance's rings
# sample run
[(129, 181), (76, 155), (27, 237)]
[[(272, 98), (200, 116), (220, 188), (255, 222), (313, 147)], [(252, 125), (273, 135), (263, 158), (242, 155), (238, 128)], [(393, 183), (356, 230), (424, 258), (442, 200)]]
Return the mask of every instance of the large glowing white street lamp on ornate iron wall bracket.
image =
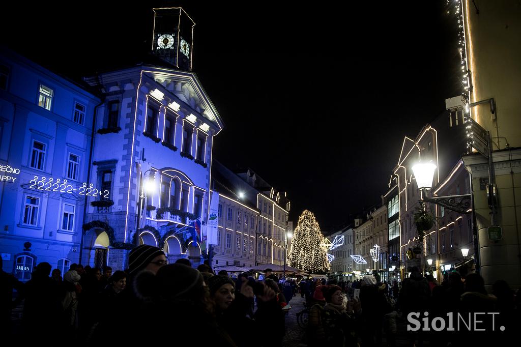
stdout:
[[(426, 203), (440, 205), (462, 214), (469, 214), (471, 206), (470, 194), (449, 195), (449, 196), (427, 196), (427, 191), (432, 188), (432, 180), (436, 165), (432, 163), (417, 163), (412, 167), (414, 178), (421, 192), (419, 200), (422, 212), (426, 213)], [(438, 230), (439, 231), (439, 230)], [(436, 250), (438, 253), (438, 261), (440, 260), (439, 236), (437, 239)], [(468, 250), (467, 250), (468, 252)], [(429, 259), (432, 263), (432, 259)], [(429, 264), (430, 265), (430, 264)], [(438, 268), (437, 268), (438, 269)]]

